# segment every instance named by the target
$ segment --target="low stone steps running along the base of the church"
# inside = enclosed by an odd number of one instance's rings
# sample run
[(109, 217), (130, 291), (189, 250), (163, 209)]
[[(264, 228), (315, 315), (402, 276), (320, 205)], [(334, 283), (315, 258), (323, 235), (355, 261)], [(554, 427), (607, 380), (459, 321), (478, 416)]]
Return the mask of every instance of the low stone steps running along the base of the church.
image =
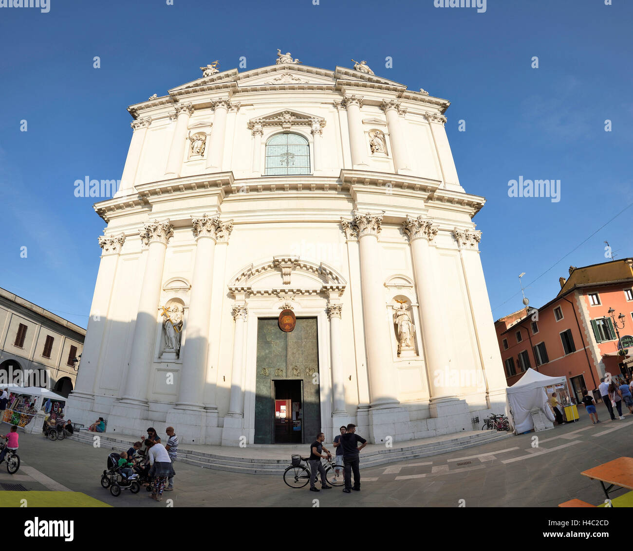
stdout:
[[(92, 445), (95, 433), (79, 432), (70, 437), (78, 442)], [(508, 438), (510, 433), (501, 433), (494, 431), (477, 431), (468, 433), (467, 435), (456, 435), (451, 439), (431, 440), (428, 443), (417, 445), (401, 445), (393, 448), (385, 448), (361, 452), (361, 468), (375, 467), (396, 461), (408, 461), (409, 459), (418, 459), (420, 457), (436, 456), (448, 452), (459, 451), (477, 445), (488, 444)], [(132, 445), (130, 439), (115, 437), (106, 433), (99, 433), (101, 438), (101, 447), (108, 449), (115, 447), (117, 449), (125, 449)], [(235, 448), (235, 452), (239, 448)], [(230, 471), (233, 473), (245, 473), (249, 475), (281, 475), (285, 468), (291, 462), (291, 453), (289, 450), (288, 457), (284, 459), (258, 458), (258, 457), (239, 457), (229, 455), (219, 455), (210, 452), (204, 452), (202, 449), (185, 448), (180, 446), (178, 450), (178, 461), (203, 468), (214, 469), (217, 471)], [(303, 453), (302, 453), (303, 454)], [(307, 449), (306, 449), (307, 454)], [(303, 454), (304, 455), (304, 454)]]

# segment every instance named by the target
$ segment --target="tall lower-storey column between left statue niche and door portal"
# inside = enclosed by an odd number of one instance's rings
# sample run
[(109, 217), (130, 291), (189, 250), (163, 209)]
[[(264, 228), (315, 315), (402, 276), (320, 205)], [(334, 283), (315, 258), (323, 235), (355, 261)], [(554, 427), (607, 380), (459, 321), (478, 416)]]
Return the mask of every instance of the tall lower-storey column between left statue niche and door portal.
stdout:
[(200, 218), (192, 218), (191, 221), (196, 238), (196, 260), (176, 408), (202, 410), (209, 348), (213, 253), (218, 233), (230, 231), (232, 221), (222, 222), (217, 215), (206, 214)]

